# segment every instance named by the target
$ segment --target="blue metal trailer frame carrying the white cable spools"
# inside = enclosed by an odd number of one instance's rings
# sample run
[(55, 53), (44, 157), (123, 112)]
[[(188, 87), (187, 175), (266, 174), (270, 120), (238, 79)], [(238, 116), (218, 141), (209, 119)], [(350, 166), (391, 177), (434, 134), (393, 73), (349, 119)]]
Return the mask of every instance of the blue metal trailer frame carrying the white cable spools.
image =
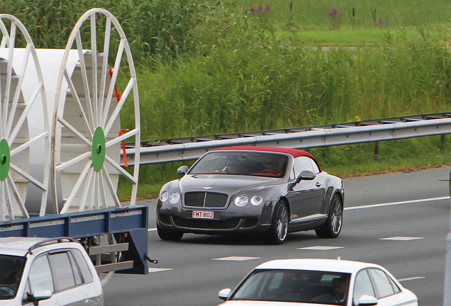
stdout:
[(147, 274), (147, 206), (124, 206), (60, 215), (45, 215), (0, 221), (0, 237), (88, 237), (113, 234), (128, 243), (122, 261), (133, 261), (133, 268), (116, 273)]

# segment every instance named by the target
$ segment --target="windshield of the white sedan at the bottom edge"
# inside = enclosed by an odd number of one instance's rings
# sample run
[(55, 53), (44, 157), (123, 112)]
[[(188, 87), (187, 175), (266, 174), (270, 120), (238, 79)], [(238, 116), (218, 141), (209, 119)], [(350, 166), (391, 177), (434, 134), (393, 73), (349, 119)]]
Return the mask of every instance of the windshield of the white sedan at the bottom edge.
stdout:
[(347, 305), (349, 273), (308, 270), (255, 270), (230, 300)]

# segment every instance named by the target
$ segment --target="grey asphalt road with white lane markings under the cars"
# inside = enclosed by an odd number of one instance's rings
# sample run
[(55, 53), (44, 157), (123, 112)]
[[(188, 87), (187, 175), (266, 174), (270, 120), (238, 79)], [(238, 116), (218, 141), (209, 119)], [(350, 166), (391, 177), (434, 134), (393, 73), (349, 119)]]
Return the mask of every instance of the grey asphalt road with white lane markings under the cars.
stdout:
[[(313, 231), (300, 232), (289, 234), (282, 246), (268, 246), (254, 237), (195, 234), (163, 242), (153, 230), (155, 200), (141, 201), (138, 204), (150, 206), (148, 253), (159, 261), (149, 267), (161, 270), (145, 276), (116, 274), (104, 287), (105, 305), (218, 305), (219, 290), (234, 288), (262, 262), (340, 256), (378, 263), (416, 293), (421, 305), (440, 306), (450, 229), (450, 170), (345, 179), (340, 237), (318, 239)], [(323, 248), (312, 249), (315, 246)]]

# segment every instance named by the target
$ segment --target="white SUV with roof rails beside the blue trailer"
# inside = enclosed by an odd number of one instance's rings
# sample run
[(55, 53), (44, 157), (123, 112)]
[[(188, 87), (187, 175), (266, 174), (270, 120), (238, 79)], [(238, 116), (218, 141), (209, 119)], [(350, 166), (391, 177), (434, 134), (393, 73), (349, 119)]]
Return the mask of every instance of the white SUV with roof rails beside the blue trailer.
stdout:
[(99, 276), (72, 238), (0, 238), (0, 306), (103, 306)]

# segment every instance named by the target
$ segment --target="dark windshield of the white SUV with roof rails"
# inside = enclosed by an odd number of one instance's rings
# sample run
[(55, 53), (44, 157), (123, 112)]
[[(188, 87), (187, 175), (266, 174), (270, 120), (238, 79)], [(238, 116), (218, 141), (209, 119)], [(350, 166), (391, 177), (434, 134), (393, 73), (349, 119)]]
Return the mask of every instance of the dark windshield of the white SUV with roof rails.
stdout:
[(24, 264), (25, 257), (0, 254), (0, 300), (16, 296)]

